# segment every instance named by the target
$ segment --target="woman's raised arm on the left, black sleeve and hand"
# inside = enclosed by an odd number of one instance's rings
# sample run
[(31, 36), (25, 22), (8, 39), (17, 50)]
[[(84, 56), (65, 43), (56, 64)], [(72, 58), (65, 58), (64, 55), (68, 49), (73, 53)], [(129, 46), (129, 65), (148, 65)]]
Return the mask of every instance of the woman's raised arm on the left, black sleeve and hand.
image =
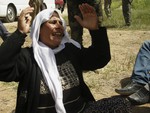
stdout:
[[(15, 80), (15, 76), (19, 75), (18, 68), (18, 56), (21, 51), (26, 37), (26, 33), (30, 28), (30, 15), (33, 11), (28, 7), (24, 9), (18, 19), (17, 30), (8, 37), (0, 46), (0, 80), (12, 81)], [(14, 75), (14, 76), (13, 76)]]

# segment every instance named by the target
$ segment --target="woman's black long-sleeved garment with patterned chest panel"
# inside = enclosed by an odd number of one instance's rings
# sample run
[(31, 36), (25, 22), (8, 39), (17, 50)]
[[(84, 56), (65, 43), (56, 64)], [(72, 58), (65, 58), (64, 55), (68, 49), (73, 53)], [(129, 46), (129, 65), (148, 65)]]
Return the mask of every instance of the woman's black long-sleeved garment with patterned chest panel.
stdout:
[[(71, 43), (66, 43), (65, 48), (55, 54), (67, 113), (77, 113), (88, 101), (94, 101), (93, 95), (84, 83), (83, 70), (103, 68), (110, 61), (106, 28), (90, 31), (90, 34), (90, 47), (79, 49)], [(26, 35), (17, 30), (1, 45), (0, 80), (19, 82), (16, 113), (37, 113), (43, 107), (43, 76), (34, 59), (32, 47), (21, 48), (25, 37)], [(44, 93), (47, 94), (51, 97), (51, 94)], [(48, 102), (44, 105), (50, 106), (50, 111), (53, 111), (54, 103), (50, 100), (45, 99)]]

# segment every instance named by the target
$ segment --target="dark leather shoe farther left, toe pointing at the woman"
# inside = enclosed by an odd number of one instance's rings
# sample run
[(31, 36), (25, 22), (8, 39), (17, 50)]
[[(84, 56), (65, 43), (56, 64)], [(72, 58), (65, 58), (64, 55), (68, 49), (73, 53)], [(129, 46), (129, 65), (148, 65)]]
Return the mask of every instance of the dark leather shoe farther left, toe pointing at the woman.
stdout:
[(132, 81), (129, 84), (127, 84), (124, 88), (115, 89), (115, 91), (120, 95), (131, 95), (143, 87), (143, 85)]

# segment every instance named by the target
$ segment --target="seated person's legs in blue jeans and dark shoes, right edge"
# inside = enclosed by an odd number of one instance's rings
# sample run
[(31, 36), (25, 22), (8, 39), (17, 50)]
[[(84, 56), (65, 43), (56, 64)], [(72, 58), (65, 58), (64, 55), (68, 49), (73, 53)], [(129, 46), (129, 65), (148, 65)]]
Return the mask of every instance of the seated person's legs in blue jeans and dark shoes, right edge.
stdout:
[(127, 95), (128, 99), (136, 105), (150, 102), (150, 41), (142, 44), (130, 78), (131, 82), (115, 91)]

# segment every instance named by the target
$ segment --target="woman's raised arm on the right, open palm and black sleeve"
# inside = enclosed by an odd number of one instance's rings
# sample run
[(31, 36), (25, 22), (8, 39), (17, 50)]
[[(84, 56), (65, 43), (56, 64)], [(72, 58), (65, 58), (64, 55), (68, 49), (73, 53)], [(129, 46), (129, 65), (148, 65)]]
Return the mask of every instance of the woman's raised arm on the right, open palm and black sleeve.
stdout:
[(79, 6), (83, 19), (75, 16), (84, 28), (90, 31), (92, 45), (82, 48), (80, 53), (81, 65), (84, 70), (95, 70), (104, 67), (110, 60), (110, 47), (105, 27), (98, 27), (98, 17), (94, 8), (88, 4)]

